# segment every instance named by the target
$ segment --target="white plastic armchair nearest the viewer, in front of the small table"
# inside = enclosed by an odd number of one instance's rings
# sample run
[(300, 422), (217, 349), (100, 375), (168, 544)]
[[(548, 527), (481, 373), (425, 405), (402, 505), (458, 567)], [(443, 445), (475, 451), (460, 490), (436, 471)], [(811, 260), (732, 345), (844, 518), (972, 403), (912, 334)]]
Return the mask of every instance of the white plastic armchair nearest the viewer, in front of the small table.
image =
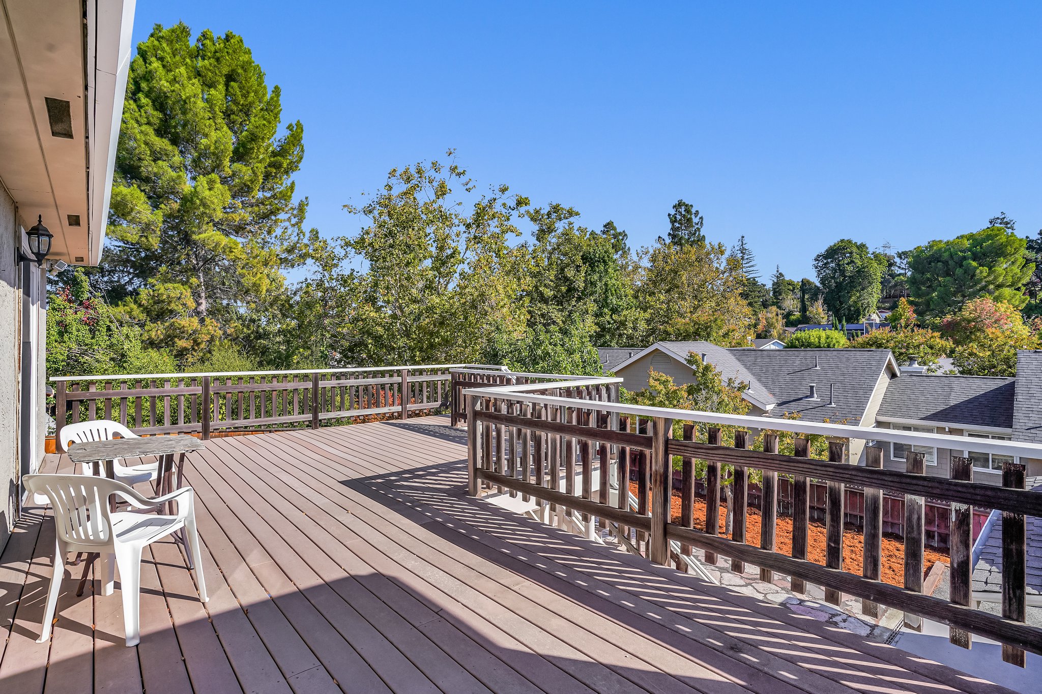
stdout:
[[(135, 646), (141, 641), (140, 592), (141, 552), (146, 545), (184, 529), (191, 558), (198, 560), (199, 534), (195, 524), (195, 492), (192, 487), (148, 498), (129, 486), (85, 474), (26, 474), (25, 488), (33, 494), (46, 495), (54, 510), (54, 575), (47, 594), (44, 625), (36, 643), (50, 638), (54, 608), (61, 592), (65, 575), (65, 558), (68, 552), (99, 552), (104, 583), (101, 594), (111, 595), (115, 588), (116, 567), (120, 569), (123, 592), (123, 623), (126, 645)], [(168, 502), (177, 502), (173, 516), (108, 510), (108, 497), (117, 494), (139, 509), (155, 509)], [(115, 563), (114, 563), (115, 560)], [(199, 561), (194, 562), (199, 599), (206, 602), (206, 584)]]

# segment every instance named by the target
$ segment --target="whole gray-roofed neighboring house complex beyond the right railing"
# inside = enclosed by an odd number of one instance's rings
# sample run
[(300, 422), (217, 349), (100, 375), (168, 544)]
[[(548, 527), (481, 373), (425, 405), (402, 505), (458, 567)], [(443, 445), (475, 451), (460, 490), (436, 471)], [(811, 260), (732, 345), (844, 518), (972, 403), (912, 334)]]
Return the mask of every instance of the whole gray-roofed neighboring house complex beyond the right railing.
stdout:
[[(626, 352), (629, 352), (628, 350)], [(899, 368), (889, 350), (752, 350), (710, 342), (655, 342), (615, 364), (627, 390), (648, 385), (648, 371), (690, 382), (690, 353), (713, 364), (724, 378), (748, 384), (743, 396), (750, 414), (798, 414), (808, 421), (832, 421), (965, 436), (966, 448), (922, 447), (928, 474), (948, 477), (951, 456), (973, 459), (974, 479), (1001, 484), (1003, 458), (976, 453), (973, 439), (1042, 443), (1042, 351), (1017, 353), (1017, 378), (926, 376)], [(899, 377), (899, 378), (898, 378)], [(860, 461), (864, 442), (851, 442)], [(918, 448), (917, 448), (918, 449)], [(904, 446), (885, 444), (884, 466), (905, 468)], [(1042, 461), (1025, 459), (1028, 475), (1042, 477)]]

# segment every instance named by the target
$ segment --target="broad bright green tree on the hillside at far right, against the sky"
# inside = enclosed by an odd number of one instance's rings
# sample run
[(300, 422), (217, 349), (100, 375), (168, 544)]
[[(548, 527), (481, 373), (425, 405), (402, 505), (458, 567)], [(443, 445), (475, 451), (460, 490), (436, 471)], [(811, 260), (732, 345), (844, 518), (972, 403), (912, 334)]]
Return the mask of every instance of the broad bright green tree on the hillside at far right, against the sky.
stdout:
[(1024, 259), (1025, 250), (1025, 239), (1001, 226), (920, 246), (909, 260), (912, 303), (927, 317), (958, 312), (979, 298), (1020, 309), (1035, 269)]

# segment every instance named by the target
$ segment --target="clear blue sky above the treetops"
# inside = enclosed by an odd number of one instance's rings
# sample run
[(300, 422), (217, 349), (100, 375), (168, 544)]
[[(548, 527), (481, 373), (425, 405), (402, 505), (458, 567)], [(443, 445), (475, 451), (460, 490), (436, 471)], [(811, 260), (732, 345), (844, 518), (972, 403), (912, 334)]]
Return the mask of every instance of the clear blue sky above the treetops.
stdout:
[(1042, 3), (139, 0), (234, 31), (304, 124), (309, 226), (441, 157), (635, 246), (684, 198), (763, 274), (842, 237), (911, 248), (1006, 211), (1042, 227)]

